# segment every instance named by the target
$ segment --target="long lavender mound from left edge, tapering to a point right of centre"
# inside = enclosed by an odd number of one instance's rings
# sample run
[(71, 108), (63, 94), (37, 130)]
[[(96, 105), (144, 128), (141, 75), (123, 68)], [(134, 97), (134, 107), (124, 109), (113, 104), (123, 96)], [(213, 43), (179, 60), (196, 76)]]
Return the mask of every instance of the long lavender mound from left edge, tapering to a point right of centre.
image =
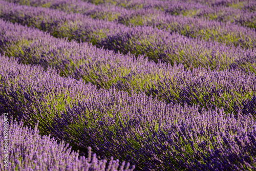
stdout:
[(98, 49), (86, 42), (58, 39), (38, 29), (3, 20), (0, 30), (1, 53), (17, 57), (23, 63), (55, 67), (61, 75), (82, 78), (106, 89), (114, 86), (129, 92), (133, 87), (138, 90), (144, 86), (143, 82), (173, 75), (179, 68), (148, 61), (144, 56), (136, 59), (134, 55)]

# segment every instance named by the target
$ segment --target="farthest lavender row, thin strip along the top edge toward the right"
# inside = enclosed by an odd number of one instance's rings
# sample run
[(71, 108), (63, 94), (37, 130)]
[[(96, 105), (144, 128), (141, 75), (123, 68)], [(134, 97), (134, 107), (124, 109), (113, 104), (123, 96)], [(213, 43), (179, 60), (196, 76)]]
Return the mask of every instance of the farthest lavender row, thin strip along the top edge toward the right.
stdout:
[[(13, 2), (17, 2), (19, 0), (10, 0)], [(26, 3), (28, 3), (27, 0)], [(38, 1), (38, 0), (37, 0)], [(220, 0), (220, 1), (190, 1), (190, 0), (183, 0), (183, 1), (156, 1), (156, 0), (99, 0), (99, 1), (92, 1), (92, 0), (84, 0), (85, 3), (93, 3), (97, 4), (97, 6), (105, 6), (110, 5), (112, 6), (133, 10), (133, 9), (158, 9), (165, 12), (170, 12), (172, 14), (179, 14), (180, 12), (192, 10), (192, 9), (208, 9), (209, 7), (212, 8), (225, 8), (228, 7), (229, 9), (240, 9), (243, 11), (255, 12), (256, 11), (256, 2), (253, 0)], [(25, 3), (25, 2), (23, 2)], [(42, 3), (42, 2), (41, 2)], [(32, 3), (33, 4), (33, 3)], [(89, 4), (89, 3), (88, 3)], [(118, 9), (120, 9), (118, 8)], [(241, 14), (241, 13), (240, 13)], [(243, 15), (243, 14), (242, 14)]]

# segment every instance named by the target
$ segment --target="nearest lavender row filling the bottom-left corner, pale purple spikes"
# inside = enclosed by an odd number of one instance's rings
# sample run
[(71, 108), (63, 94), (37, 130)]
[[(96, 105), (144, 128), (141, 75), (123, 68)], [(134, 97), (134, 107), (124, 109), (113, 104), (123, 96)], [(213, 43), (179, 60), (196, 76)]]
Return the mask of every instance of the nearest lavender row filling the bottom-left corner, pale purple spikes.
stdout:
[[(7, 115), (7, 118), (11, 119)], [(78, 152), (71, 152), (69, 144), (63, 141), (57, 143), (56, 140), (49, 136), (39, 135), (37, 124), (35, 129), (25, 127), (23, 122), (17, 123), (16, 120), (10, 121), (4, 119), (1, 115), (0, 132), (4, 132), (4, 127), (7, 128), (9, 134), (8, 144), (8, 159), (7, 164), (4, 160), (0, 160), (1, 170), (112, 170), (112, 171), (128, 171), (130, 164), (125, 162), (119, 165), (119, 160), (113, 160), (107, 163), (106, 160), (98, 160), (96, 154), (92, 155), (91, 147), (89, 147), (89, 157), (80, 156)], [(4, 136), (3, 136), (4, 137)], [(1, 157), (4, 157), (4, 138), (1, 142)], [(7, 165), (7, 166), (6, 166)]]

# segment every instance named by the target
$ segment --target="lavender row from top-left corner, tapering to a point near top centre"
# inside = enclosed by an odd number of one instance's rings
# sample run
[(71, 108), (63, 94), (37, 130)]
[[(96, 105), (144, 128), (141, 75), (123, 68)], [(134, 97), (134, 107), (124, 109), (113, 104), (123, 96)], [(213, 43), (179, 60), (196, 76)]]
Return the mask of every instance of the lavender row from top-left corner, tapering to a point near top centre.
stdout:
[[(67, 14), (47, 8), (19, 6), (5, 1), (0, 2), (0, 17), (43, 31), (56, 37), (68, 37), (69, 40), (89, 41), (97, 44), (108, 34), (123, 28), (116, 22), (93, 19), (81, 14)], [(13, 15), (15, 14), (15, 15)]]

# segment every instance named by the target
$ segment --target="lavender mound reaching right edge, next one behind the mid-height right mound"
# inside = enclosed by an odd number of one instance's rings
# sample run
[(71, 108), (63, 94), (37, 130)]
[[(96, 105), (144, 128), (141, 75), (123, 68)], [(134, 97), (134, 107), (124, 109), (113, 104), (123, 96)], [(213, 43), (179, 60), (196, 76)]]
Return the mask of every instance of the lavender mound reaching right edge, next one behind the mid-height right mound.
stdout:
[[(169, 34), (152, 27), (127, 28), (103, 38), (101, 46), (116, 52), (145, 54), (155, 61), (183, 64), (186, 68), (240, 68), (255, 72), (255, 50), (244, 50), (216, 41)], [(239, 66), (239, 67), (238, 67)]]

